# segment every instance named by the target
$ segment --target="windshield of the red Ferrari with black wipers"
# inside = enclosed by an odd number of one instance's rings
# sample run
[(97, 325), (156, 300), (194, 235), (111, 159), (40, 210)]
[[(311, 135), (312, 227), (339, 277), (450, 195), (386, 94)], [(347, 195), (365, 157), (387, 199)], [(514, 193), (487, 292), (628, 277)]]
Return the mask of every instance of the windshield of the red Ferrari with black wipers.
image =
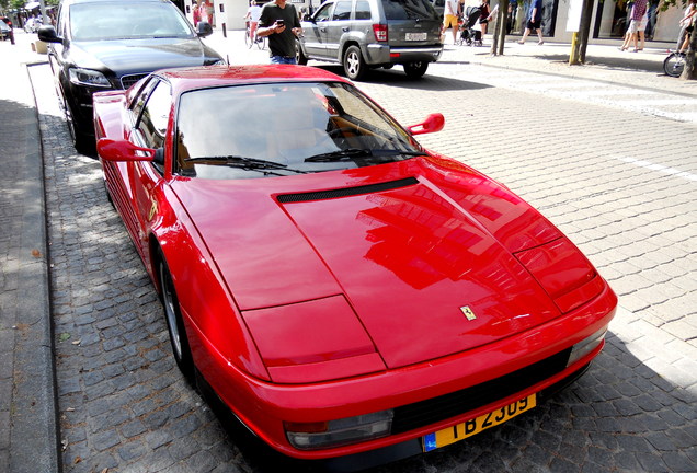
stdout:
[(399, 125), (343, 83), (226, 86), (182, 95), (176, 170), (253, 178), (401, 161), (424, 152)]

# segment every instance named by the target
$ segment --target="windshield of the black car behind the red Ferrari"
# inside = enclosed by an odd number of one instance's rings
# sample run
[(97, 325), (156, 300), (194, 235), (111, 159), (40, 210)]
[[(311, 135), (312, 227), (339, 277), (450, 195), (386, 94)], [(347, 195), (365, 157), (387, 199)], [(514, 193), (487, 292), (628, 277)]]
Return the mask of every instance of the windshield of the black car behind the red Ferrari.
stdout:
[(72, 41), (193, 37), (176, 7), (167, 2), (95, 2), (70, 7)]

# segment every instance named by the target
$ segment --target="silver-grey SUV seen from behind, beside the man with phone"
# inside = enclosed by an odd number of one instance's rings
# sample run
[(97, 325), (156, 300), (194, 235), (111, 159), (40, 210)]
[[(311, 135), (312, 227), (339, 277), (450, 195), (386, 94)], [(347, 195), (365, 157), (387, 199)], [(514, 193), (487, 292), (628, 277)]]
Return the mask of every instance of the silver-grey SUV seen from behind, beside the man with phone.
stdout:
[(340, 62), (351, 80), (396, 64), (420, 78), (443, 54), (441, 19), (429, 0), (328, 0), (302, 30), (298, 64)]

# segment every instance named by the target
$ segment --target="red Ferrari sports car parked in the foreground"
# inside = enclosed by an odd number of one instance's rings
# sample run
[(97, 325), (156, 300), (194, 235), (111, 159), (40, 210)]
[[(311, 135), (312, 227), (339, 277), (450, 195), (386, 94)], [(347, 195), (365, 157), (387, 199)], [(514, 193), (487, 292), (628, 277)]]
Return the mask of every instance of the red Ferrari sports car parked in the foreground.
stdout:
[(538, 211), (294, 66), (160, 71), (94, 96), (108, 195), (176, 362), (286, 455), (390, 458), (534, 408), (617, 298)]

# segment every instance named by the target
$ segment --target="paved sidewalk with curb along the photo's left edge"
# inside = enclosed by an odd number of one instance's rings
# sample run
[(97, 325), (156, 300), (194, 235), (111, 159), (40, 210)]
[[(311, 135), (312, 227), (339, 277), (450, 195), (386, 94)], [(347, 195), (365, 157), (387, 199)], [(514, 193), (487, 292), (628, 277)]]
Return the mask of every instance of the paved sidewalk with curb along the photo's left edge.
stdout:
[(44, 164), (28, 35), (0, 43), (0, 471), (60, 471)]

